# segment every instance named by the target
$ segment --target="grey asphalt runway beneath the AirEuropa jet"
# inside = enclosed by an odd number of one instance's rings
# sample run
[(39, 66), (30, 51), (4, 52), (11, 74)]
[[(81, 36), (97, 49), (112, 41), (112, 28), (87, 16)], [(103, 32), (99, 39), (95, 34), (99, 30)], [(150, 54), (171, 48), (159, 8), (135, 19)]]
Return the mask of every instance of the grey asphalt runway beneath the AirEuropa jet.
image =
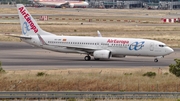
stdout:
[(24, 42), (0, 42), (0, 61), (5, 70), (41, 70), (62, 68), (135, 68), (168, 67), (180, 56), (180, 49), (155, 63), (153, 57), (112, 58), (84, 61), (84, 54), (66, 54), (32, 47)]

